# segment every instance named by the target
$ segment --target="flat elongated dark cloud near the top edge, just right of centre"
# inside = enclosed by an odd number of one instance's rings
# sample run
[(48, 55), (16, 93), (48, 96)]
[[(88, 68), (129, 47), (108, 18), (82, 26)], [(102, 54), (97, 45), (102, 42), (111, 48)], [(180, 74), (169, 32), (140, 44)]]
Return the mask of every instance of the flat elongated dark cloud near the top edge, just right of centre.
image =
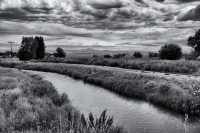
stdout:
[(115, 3), (92, 3), (91, 6), (95, 9), (110, 9), (110, 8), (121, 8), (123, 4), (120, 2)]

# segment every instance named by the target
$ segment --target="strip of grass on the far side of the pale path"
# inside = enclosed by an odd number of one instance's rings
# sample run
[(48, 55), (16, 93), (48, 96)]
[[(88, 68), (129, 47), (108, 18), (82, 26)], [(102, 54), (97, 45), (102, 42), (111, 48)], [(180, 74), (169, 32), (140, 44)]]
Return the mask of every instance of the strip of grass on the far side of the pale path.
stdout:
[(133, 59), (122, 57), (120, 59), (103, 58), (103, 57), (66, 57), (54, 58), (46, 57), (37, 62), (52, 62), (52, 63), (69, 63), (69, 64), (86, 64), (86, 65), (99, 65), (120, 67), (127, 69), (146, 70), (155, 72), (167, 73), (184, 73), (191, 74), (197, 72), (200, 64), (196, 61), (185, 60), (151, 60), (151, 59)]

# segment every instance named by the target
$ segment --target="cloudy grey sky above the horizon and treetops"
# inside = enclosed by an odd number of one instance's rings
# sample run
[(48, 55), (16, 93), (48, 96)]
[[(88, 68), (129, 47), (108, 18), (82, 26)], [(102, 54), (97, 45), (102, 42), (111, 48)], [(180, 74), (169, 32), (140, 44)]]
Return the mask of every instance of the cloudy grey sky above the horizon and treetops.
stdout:
[[(0, 0), (0, 45), (43, 36), (48, 45), (158, 50), (200, 29), (199, 0)], [(123, 48), (122, 47), (122, 48)]]

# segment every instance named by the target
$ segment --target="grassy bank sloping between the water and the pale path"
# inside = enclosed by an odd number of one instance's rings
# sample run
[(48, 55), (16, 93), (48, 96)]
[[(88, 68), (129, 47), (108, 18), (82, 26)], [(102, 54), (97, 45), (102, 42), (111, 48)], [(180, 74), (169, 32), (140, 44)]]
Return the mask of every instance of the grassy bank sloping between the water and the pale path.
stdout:
[(166, 79), (55, 63), (16, 63), (14, 67), (68, 75), (123, 96), (141, 98), (180, 113), (200, 115), (200, 83), (196, 80)]

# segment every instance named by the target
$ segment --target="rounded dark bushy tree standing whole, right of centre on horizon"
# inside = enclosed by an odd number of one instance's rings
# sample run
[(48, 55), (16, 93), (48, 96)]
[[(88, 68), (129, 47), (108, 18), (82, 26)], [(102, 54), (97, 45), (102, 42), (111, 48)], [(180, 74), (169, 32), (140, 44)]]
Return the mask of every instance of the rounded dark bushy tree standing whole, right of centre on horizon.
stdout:
[(182, 56), (182, 48), (177, 44), (165, 44), (159, 50), (160, 59), (176, 60)]

